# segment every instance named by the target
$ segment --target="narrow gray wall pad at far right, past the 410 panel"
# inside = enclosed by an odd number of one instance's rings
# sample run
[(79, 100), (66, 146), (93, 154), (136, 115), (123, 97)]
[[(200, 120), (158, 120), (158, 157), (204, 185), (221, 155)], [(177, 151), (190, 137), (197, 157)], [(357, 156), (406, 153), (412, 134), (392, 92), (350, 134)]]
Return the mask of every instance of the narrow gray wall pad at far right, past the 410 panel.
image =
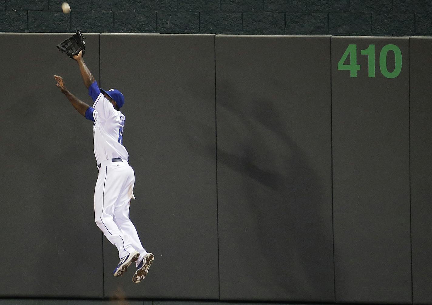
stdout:
[(432, 38), (410, 38), (411, 233), (414, 304), (432, 303)]

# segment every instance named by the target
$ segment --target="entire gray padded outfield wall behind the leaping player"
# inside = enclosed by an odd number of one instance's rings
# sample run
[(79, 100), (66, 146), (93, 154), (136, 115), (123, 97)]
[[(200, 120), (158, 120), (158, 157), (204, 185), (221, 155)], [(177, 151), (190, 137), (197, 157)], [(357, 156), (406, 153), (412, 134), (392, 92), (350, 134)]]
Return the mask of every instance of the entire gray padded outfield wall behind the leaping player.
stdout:
[(431, 38), (87, 34), (126, 97), (156, 256), (137, 286), (94, 224), (92, 124), (55, 86), (90, 103), (67, 36), (0, 34), (0, 297), (432, 303)]

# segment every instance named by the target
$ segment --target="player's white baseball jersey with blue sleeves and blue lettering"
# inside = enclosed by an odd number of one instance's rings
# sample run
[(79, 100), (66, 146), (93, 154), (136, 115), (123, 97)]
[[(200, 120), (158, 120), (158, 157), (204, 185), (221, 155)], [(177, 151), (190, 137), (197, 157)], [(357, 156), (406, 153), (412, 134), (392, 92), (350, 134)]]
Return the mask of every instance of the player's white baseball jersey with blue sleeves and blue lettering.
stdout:
[(129, 160), (129, 154), (123, 146), (124, 114), (100, 92), (96, 82), (89, 88), (89, 95), (94, 104), (86, 111), (86, 118), (94, 121), (93, 138), (97, 164), (113, 158)]

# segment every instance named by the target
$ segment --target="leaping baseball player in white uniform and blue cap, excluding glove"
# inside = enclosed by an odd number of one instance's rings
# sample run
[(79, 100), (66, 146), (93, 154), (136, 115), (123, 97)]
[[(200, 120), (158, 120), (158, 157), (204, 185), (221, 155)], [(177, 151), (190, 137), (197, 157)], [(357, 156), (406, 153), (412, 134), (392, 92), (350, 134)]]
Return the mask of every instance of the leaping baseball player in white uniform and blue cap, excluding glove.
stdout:
[(94, 122), (94, 151), (99, 169), (95, 187), (95, 222), (118, 249), (120, 262), (114, 269), (114, 276), (123, 275), (127, 267), (135, 262), (137, 271), (132, 281), (139, 283), (146, 277), (154, 255), (144, 250), (137, 229), (129, 219), (130, 200), (135, 198), (132, 192), (135, 175), (127, 163), (129, 155), (122, 145), (124, 114), (120, 108), (124, 105), (124, 97), (116, 89), (105, 91), (98, 87), (84, 63), (82, 51), (73, 59), (78, 62), (93, 106), (90, 107), (70, 93), (61, 76), (54, 75), (54, 79), (76, 111)]

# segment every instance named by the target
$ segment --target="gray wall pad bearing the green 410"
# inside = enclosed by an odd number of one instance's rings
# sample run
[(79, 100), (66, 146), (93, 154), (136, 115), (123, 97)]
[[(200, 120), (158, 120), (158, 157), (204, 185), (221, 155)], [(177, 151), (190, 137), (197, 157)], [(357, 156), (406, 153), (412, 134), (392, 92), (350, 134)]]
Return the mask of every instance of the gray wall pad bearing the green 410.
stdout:
[[(357, 77), (337, 70), (349, 44), (357, 44)], [(360, 55), (370, 44), (375, 78)], [(379, 69), (386, 44), (402, 52), (393, 79)], [(408, 38), (335, 36), (331, 50), (336, 301), (410, 303)], [(389, 52), (389, 71), (394, 58)]]

